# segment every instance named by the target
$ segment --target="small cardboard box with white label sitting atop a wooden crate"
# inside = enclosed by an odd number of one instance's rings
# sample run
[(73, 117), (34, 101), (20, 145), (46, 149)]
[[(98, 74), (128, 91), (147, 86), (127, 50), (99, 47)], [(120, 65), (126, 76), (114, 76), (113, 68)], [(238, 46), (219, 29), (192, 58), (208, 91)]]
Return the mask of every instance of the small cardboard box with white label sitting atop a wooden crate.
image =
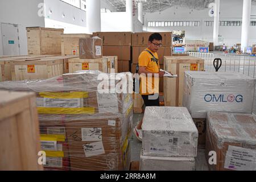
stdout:
[(79, 39), (79, 58), (97, 59), (102, 55), (102, 39), (97, 37)]

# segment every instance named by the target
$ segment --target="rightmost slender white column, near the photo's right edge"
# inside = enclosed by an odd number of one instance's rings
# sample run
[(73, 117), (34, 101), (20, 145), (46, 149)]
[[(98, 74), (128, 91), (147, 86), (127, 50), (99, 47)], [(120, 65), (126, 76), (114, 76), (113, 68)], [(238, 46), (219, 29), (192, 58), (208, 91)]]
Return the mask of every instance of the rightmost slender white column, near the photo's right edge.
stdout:
[(249, 46), (249, 27), (251, 18), (251, 0), (243, 0), (243, 19), (242, 19), (242, 36), (241, 50)]

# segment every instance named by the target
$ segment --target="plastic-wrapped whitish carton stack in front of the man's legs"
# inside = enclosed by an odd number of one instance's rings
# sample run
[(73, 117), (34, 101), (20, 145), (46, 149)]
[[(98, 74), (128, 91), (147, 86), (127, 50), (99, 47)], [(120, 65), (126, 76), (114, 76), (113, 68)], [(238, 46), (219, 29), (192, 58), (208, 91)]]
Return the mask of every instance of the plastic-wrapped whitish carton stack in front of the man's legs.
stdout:
[(185, 107), (146, 107), (140, 169), (195, 170), (197, 138), (198, 131)]

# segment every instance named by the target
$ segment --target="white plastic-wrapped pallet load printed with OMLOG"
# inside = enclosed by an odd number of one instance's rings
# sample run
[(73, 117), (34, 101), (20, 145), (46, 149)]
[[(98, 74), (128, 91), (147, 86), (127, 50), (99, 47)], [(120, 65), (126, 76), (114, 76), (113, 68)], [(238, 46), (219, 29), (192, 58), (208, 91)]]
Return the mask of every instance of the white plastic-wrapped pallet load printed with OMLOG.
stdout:
[(206, 118), (207, 111), (253, 111), (255, 79), (230, 72), (185, 72), (183, 106), (192, 118)]

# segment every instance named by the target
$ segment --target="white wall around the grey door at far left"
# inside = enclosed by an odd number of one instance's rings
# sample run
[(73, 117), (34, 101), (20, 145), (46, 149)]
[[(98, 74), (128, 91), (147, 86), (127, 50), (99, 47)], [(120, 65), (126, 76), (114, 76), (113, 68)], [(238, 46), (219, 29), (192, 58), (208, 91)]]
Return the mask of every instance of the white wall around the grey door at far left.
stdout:
[[(26, 27), (44, 27), (44, 18), (38, 16), (38, 5), (43, 0), (1, 0), (0, 23), (19, 24), (20, 54), (27, 54)], [(2, 32), (0, 28), (0, 55), (3, 55)]]

